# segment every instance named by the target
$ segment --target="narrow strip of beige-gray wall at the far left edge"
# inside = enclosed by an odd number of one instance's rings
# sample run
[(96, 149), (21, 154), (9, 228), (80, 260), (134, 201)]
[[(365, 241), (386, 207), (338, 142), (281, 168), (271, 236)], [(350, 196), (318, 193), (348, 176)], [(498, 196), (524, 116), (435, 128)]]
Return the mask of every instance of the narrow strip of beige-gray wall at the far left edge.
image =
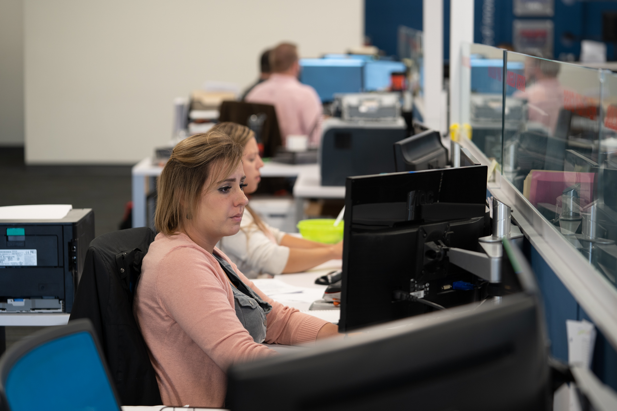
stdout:
[(22, 0), (0, 0), (0, 146), (23, 146)]

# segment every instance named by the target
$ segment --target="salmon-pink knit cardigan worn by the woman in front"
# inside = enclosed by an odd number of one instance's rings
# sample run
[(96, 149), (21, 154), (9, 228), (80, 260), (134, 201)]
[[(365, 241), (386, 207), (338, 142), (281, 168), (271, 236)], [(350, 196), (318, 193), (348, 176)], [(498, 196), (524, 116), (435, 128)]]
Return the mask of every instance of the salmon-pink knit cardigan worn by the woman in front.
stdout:
[[(241, 280), (272, 305), (265, 342), (315, 341), (325, 321), (273, 301), (228, 257)], [(144, 257), (133, 312), (149, 349), (165, 405), (222, 407), (228, 367), (276, 352), (253, 341), (234, 309), (218, 261), (188, 236), (159, 234)]]

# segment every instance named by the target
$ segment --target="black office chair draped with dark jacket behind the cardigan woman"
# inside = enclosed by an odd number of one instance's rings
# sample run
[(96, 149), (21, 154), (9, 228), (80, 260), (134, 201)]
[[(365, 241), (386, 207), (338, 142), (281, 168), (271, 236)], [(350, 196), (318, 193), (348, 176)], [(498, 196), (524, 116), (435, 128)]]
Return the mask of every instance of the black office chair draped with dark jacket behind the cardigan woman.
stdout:
[(160, 405), (146, 342), (133, 317), (133, 293), (154, 232), (129, 228), (90, 243), (70, 320), (89, 318), (122, 405)]

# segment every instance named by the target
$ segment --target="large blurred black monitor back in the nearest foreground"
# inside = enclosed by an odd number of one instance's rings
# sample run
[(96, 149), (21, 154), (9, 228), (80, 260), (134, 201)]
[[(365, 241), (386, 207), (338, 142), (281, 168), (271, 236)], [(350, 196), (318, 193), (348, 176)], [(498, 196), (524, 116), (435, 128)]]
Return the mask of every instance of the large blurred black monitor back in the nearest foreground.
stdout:
[(234, 365), (225, 407), (552, 410), (534, 278), (521, 253), (510, 249), (504, 265), (517, 272), (523, 291), (500, 304), (469, 304), (397, 320), (310, 349)]

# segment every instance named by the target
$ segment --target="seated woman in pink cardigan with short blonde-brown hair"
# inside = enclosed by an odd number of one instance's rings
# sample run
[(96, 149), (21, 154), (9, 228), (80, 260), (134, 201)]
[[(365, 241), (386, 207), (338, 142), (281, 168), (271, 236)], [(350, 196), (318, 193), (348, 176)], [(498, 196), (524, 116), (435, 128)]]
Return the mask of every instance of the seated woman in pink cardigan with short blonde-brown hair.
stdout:
[(159, 178), (155, 225), (133, 307), (165, 405), (222, 407), (230, 365), (338, 327), (273, 301), (215, 244), (238, 232), (244, 147), (218, 131), (184, 139)]

